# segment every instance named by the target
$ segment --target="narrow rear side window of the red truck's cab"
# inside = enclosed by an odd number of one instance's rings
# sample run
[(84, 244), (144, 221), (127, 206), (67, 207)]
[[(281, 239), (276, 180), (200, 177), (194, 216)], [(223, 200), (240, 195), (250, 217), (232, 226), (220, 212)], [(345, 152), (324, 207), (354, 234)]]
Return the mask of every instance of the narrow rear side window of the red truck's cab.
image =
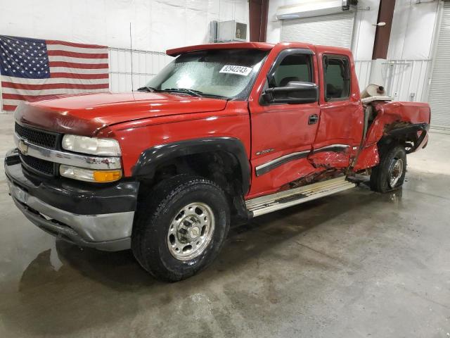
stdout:
[(325, 100), (348, 99), (350, 94), (350, 67), (345, 56), (323, 56)]

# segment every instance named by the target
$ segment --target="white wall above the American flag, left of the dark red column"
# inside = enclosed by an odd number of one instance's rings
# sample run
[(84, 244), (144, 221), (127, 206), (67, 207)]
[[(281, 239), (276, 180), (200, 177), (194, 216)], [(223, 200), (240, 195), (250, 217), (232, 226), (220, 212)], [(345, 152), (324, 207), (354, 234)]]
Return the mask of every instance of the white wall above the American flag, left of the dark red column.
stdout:
[[(165, 56), (166, 49), (207, 43), (212, 20), (236, 20), (248, 24), (248, 1), (2, 1), (0, 35), (58, 39), (112, 47), (110, 90), (124, 92), (146, 84), (150, 77), (171, 60), (171, 57)], [(134, 50), (133, 81), (129, 50), (130, 23)]]

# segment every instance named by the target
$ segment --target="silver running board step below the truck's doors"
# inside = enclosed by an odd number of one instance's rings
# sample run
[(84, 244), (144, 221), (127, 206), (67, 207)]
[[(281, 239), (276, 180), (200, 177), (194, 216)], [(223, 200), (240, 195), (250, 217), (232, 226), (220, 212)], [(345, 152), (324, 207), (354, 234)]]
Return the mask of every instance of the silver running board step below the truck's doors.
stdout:
[(257, 197), (256, 199), (249, 199), (245, 202), (245, 206), (247, 206), (248, 211), (252, 213), (253, 217), (257, 217), (265, 213), (271, 213), (272, 211), (289, 208), (290, 206), (296, 206), (307, 201), (343, 192), (353, 187), (356, 187), (356, 184), (346, 181), (345, 177), (338, 177), (285, 190), (284, 192)]

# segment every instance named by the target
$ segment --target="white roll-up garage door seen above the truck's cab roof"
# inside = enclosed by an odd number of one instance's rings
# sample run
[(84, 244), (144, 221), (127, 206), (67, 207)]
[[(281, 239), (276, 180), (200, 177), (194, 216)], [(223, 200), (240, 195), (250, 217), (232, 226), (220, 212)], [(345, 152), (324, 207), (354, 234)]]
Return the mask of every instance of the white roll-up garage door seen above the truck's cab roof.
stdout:
[(282, 42), (309, 42), (350, 48), (352, 46), (354, 12), (283, 20)]

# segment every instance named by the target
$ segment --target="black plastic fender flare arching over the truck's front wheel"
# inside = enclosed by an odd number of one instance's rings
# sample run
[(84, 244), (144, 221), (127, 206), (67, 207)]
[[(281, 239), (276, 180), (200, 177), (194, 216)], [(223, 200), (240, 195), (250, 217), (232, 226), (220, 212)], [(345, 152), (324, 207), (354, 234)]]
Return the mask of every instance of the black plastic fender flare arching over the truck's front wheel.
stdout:
[(155, 176), (156, 168), (174, 158), (214, 151), (224, 151), (234, 156), (239, 163), (242, 176), (242, 192), (250, 189), (250, 162), (244, 144), (234, 137), (209, 137), (160, 144), (144, 150), (134, 165), (132, 175), (137, 177)]

